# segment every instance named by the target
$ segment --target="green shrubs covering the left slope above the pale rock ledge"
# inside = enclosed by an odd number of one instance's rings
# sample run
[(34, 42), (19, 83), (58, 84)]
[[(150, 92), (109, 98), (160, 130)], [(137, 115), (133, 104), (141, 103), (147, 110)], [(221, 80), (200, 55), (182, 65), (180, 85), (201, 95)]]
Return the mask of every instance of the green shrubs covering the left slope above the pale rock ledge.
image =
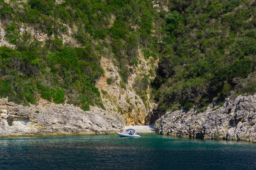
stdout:
[[(151, 30), (160, 17), (150, 0), (0, 0), (0, 19), (6, 40), (16, 45), (0, 47), (0, 96), (19, 104), (36, 104), (40, 96), (84, 111), (90, 105), (105, 109), (94, 85), (103, 74), (101, 56), (119, 68), (122, 88), (128, 68), (138, 65), (138, 46), (157, 59)], [(46, 34), (46, 40), (34, 40), (22, 25)], [(64, 43), (62, 34), (75, 41)], [(107, 79), (108, 85), (114, 81)]]

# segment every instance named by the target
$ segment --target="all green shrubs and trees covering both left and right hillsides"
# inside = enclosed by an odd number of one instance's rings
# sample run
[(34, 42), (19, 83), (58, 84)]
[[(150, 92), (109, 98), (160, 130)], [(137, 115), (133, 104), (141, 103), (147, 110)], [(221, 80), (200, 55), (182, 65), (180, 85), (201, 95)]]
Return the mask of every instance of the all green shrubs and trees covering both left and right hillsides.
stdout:
[[(1, 27), (16, 46), (0, 47), (0, 96), (9, 101), (36, 104), (40, 96), (85, 111), (90, 105), (105, 109), (95, 87), (101, 57), (112, 59), (125, 88), (142, 62), (139, 49), (152, 65), (159, 59), (155, 79), (151, 68), (133, 85), (147, 107), (148, 87), (163, 112), (180, 106), (201, 112), (212, 101), (256, 92), (253, 1), (163, 1), (169, 12), (154, 10), (151, 0), (9, 3), (0, 0)], [(44, 41), (23, 26), (45, 34)]]

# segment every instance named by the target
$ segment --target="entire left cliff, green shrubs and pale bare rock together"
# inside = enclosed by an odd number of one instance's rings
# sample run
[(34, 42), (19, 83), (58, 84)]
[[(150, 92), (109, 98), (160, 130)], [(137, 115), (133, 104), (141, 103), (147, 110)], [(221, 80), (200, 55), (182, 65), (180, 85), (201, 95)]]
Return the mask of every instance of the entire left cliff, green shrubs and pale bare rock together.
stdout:
[(0, 1), (0, 135), (149, 124), (154, 12), (151, 1)]

